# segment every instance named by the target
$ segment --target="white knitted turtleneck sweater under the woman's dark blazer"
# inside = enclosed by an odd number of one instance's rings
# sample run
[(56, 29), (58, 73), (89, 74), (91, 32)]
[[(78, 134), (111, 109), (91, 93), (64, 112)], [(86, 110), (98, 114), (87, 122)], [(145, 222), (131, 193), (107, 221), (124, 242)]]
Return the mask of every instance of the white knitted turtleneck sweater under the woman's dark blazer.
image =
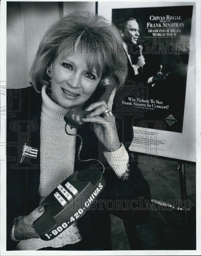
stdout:
[[(69, 109), (52, 101), (46, 94), (45, 86), (42, 87), (41, 93), (40, 185), (38, 191), (40, 204), (58, 184), (74, 172), (76, 140), (76, 136), (67, 135), (64, 130), (65, 121), (63, 117)], [(75, 128), (70, 129), (67, 126), (66, 129), (69, 133), (76, 134)], [(114, 152), (104, 152), (104, 155), (117, 176), (125, 173), (128, 163), (128, 153), (123, 145)], [(59, 236), (50, 241), (44, 241), (40, 238), (21, 240), (17, 244), (16, 250), (63, 247), (66, 244), (77, 243), (81, 239), (75, 222), (59, 234)]]

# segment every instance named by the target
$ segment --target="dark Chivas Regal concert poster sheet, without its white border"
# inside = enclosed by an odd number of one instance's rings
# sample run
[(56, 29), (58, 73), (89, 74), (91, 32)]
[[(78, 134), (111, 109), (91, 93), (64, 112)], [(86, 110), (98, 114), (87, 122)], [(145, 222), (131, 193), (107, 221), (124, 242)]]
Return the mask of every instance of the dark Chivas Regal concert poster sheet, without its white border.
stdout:
[(138, 74), (129, 69), (127, 93), (119, 92), (117, 110), (133, 126), (182, 133), (192, 10), (192, 5), (112, 9), (132, 64), (138, 65), (140, 55), (145, 61)]

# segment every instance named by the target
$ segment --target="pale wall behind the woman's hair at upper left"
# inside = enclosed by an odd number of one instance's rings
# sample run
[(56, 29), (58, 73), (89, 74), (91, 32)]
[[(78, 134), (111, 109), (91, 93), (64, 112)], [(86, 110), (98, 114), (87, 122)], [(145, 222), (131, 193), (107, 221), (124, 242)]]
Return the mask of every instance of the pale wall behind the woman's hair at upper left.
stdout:
[(29, 70), (39, 43), (59, 17), (73, 11), (95, 13), (95, 2), (7, 2), (7, 84), (29, 86)]

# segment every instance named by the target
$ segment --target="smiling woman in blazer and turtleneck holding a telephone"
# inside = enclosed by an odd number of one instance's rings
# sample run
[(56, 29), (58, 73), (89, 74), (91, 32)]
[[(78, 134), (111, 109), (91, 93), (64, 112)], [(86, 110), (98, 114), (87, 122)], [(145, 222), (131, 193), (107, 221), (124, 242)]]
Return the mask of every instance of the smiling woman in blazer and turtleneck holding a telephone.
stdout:
[[(142, 209), (144, 201), (142, 204), (138, 197), (150, 199), (149, 186), (127, 153), (132, 126), (120, 116), (115, 120), (111, 113), (114, 90), (107, 103), (97, 101), (108, 78), (118, 84), (125, 80), (126, 55), (113, 51), (119, 44), (122, 39), (117, 28), (88, 13), (70, 14), (44, 35), (30, 71), (33, 87), (20, 91), (23, 111), (7, 123), (8, 145), (19, 136), (16, 127), (20, 126), (20, 134), (25, 136), (19, 140), (19, 148), (26, 143), (38, 149), (36, 158), (26, 156), (20, 163), (20, 152), (7, 147), (8, 155), (18, 159), (14, 165), (7, 161), (7, 233), (14, 242), (8, 250), (14, 246), (16, 250), (111, 250), (110, 213), (134, 224), (146, 220), (149, 211)], [(13, 111), (16, 104), (19, 102), (13, 102)], [(64, 132), (63, 117), (74, 106), (89, 111), (82, 118), (86, 125), (77, 129), (67, 125), (67, 131), (82, 136), (81, 159), (104, 163), (106, 186), (99, 196), (103, 204), (87, 211), (58, 237), (43, 241), (34, 229), (34, 221), (44, 213), (41, 202), (73, 170), (92, 165), (77, 160), (80, 142)], [(106, 200), (121, 205), (109, 208)], [(141, 209), (128, 205), (131, 200)]]

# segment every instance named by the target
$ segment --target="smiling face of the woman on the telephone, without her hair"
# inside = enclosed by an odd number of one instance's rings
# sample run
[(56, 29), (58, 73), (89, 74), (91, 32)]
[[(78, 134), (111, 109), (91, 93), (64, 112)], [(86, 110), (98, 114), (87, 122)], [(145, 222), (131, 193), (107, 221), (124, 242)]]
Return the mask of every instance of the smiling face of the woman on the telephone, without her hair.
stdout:
[(84, 54), (59, 55), (52, 64), (51, 99), (65, 108), (85, 103), (96, 89), (100, 77), (89, 71)]

